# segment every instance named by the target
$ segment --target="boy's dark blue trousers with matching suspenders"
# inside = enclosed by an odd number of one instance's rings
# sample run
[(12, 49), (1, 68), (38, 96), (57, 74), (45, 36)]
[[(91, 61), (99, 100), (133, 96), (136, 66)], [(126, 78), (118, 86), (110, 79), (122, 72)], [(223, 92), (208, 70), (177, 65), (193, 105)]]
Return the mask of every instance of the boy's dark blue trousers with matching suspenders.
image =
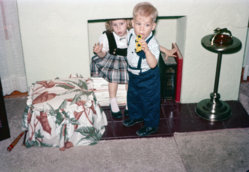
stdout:
[[(132, 34), (130, 35), (128, 45)], [(146, 40), (147, 44), (153, 35)], [(142, 72), (141, 63), (145, 59), (144, 51), (139, 56), (137, 67), (129, 68), (140, 70), (139, 75), (129, 73), (127, 103), (131, 120), (143, 119), (146, 127), (158, 128), (160, 120), (160, 72), (159, 67)]]

